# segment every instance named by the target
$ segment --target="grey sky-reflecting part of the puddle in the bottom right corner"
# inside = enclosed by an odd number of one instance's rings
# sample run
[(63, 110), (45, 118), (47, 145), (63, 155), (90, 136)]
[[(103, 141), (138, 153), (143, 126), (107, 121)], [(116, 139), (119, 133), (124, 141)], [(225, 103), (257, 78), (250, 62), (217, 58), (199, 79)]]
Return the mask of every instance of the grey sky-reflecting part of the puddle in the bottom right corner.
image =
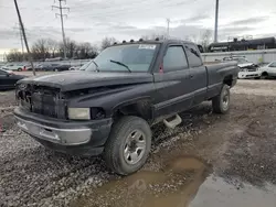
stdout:
[(275, 207), (276, 186), (263, 188), (242, 184), (241, 188), (211, 175), (201, 185), (189, 207)]

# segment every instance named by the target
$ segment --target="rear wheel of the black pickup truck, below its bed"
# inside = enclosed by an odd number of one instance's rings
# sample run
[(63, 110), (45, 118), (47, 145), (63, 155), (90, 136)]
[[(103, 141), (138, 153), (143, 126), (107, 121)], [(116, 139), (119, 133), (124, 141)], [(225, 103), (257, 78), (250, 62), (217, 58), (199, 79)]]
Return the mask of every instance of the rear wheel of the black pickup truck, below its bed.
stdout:
[(213, 111), (216, 113), (226, 113), (230, 109), (230, 86), (223, 85), (219, 96), (212, 99)]

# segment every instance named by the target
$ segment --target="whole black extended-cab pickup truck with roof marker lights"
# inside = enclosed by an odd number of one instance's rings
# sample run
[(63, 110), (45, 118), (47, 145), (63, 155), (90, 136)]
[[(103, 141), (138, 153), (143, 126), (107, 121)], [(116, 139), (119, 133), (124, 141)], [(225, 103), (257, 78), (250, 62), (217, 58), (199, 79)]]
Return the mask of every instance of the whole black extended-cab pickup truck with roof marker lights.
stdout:
[(55, 151), (103, 154), (118, 174), (138, 171), (151, 146), (150, 127), (181, 122), (179, 112), (212, 100), (230, 108), (235, 62), (204, 66), (198, 46), (183, 41), (138, 41), (104, 50), (78, 72), (20, 80), (18, 126)]

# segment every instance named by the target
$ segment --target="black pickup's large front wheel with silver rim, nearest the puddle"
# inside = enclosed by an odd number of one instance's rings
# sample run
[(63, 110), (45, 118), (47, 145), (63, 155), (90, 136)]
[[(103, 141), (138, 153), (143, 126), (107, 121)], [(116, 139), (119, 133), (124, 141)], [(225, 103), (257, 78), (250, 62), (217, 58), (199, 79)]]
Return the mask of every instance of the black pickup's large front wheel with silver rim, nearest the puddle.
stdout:
[[(135, 145), (139, 143), (137, 140), (144, 150), (138, 146), (135, 150)], [(129, 175), (144, 166), (150, 148), (151, 130), (148, 122), (139, 117), (123, 117), (112, 128), (105, 145), (104, 157), (112, 171), (120, 175)]]

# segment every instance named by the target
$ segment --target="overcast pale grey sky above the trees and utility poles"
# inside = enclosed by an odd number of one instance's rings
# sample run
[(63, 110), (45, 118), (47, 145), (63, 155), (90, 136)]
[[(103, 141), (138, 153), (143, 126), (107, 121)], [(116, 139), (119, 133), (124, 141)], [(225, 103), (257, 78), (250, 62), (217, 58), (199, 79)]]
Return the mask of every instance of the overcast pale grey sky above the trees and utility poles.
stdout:
[[(38, 39), (61, 40), (61, 22), (51, 6), (54, 0), (18, 0), (30, 44)], [(213, 30), (215, 0), (67, 0), (64, 20), (66, 36), (99, 43), (105, 36), (117, 40), (166, 33), (193, 39)], [(59, 12), (59, 11), (56, 11)], [(275, 0), (220, 0), (219, 37), (276, 36)], [(0, 53), (20, 48), (18, 17), (12, 0), (0, 0)]]

